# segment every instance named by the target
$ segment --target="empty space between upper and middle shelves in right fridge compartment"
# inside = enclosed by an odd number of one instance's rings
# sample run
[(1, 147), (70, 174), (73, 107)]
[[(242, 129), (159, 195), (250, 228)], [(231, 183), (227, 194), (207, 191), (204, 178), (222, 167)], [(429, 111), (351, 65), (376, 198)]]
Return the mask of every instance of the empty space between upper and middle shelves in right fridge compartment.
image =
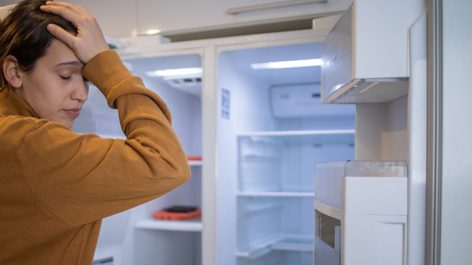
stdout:
[(354, 157), (351, 141), (354, 141), (353, 132), (240, 136), (239, 191), (312, 193), (316, 163)]

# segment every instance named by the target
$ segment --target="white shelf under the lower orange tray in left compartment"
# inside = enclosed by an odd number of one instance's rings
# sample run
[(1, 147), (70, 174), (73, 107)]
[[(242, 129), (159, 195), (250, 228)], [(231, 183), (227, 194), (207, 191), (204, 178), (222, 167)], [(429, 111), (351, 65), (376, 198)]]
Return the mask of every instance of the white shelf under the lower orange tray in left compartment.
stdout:
[(156, 219), (143, 219), (135, 223), (135, 228), (150, 230), (188, 231), (201, 232), (202, 221), (200, 218), (189, 221), (167, 221)]

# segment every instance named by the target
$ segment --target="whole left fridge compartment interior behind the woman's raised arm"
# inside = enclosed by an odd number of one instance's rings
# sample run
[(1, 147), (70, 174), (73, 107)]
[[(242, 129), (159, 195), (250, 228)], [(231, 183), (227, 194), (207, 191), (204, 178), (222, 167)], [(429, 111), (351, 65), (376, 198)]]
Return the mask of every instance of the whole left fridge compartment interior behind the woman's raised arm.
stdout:
[[(133, 75), (140, 76), (146, 88), (156, 92), (167, 104), (172, 115), (172, 127), (186, 155), (201, 156), (201, 76), (166, 81), (165, 77), (145, 75), (147, 71), (201, 67), (201, 56), (187, 54), (126, 62), (132, 65)], [(170, 82), (177, 83), (177, 87)], [(188, 84), (179, 86), (178, 82)], [(93, 85), (88, 96), (72, 129), (77, 133), (126, 139), (119, 124), (118, 110), (109, 108), (105, 97)], [(94, 260), (113, 257), (114, 265), (201, 264), (200, 219), (158, 221), (152, 217), (153, 212), (174, 205), (202, 207), (202, 163), (191, 161), (190, 164), (192, 176), (187, 183), (158, 199), (103, 219)]]

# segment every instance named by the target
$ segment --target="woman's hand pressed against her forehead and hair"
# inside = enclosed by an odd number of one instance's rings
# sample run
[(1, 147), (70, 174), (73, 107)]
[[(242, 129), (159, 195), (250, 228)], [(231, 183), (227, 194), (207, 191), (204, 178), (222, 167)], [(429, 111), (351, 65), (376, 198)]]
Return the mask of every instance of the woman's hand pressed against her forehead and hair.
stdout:
[(77, 36), (54, 24), (48, 25), (48, 31), (66, 43), (84, 64), (95, 55), (108, 50), (107, 41), (103, 37), (97, 20), (85, 8), (64, 2), (48, 1), (45, 6), (41, 6), (41, 10), (64, 17), (76, 26)]

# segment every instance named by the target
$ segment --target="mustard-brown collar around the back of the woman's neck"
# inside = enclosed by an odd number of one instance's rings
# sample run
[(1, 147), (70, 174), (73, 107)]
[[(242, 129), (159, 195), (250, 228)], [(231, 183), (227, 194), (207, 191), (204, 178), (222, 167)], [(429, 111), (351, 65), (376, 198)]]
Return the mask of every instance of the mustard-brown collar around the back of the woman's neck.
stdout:
[(24, 116), (39, 119), (25, 100), (20, 98), (17, 93), (8, 89), (4, 89), (0, 92), (0, 115)]

